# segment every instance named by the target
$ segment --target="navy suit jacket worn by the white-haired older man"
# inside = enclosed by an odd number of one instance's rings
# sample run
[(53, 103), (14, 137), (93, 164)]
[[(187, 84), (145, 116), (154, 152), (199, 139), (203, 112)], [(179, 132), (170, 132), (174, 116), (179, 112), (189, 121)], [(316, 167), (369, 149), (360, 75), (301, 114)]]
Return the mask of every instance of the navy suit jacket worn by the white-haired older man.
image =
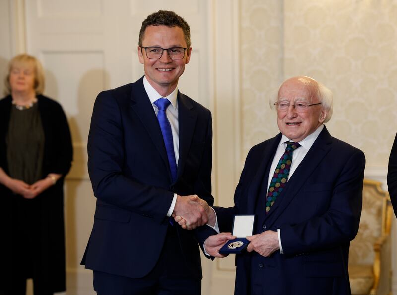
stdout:
[[(345, 295), (349, 242), (361, 214), (363, 152), (324, 128), (269, 214), (256, 204), (281, 134), (254, 146), (246, 159), (232, 208), (215, 207), (220, 230), (231, 231), (233, 214), (255, 214), (255, 234), (280, 229), (284, 254), (236, 255), (235, 294)], [(262, 281), (252, 286), (251, 281)], [(263, 288), (263, 290), (262, 290)], [(263, 293), (262, 293), (263, 292)]]

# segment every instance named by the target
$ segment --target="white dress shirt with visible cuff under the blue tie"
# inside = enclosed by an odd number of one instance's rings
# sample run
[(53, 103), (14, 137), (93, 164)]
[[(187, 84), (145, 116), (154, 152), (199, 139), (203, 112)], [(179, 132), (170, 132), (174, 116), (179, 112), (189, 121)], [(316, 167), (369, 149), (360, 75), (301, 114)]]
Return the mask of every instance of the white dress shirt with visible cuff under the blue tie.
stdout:
[[(174, 142), (174, 152), (175, 152), (175, 162), (178, 167), (178, 160), (179, 160), (179, 124), (178, 124), (178, 88), (175, 88), (173, 92), (171, 92), (167, 96), (161, 96), (152, 85), (150, 85), (149, 81), (147, 81), (146, 76), (143, 77), (143, 87), (149, 97), (150, 102), (152, 103), (153, 110), (158, 113), (158, 108), (154, 104), (156, 100), (159, 98), (166, 98), (168, 99), (171, 104), (168, 106), (165, 114), (167, 115), (167, 119), (171, 125), (171, 132), (172, 132), (172, 141)], [(168, 210), (167, 216), (171, 216), (172, 212), (175, 208), (175, 203), (177, 201), (177, 194), (174, 194), (174, 198), (172, 199), (172, 203), (170, 209)]]

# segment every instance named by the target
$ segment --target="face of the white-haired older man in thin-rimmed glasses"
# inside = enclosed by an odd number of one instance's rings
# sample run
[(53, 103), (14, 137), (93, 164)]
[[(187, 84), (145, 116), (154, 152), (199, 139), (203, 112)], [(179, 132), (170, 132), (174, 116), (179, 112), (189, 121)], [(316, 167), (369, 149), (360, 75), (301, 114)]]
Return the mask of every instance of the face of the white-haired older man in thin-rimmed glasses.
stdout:
[[(317, 82), (308, 77), (294, 77), (286, 80), (278, 91), (278, 102), (288, 104), (316, 104), (321, 102), (317, 97)], [(326, 110), (322, 105), (307, 107), (297, 112), (294, 106), (287, 110), (277, 109), (277, 125), (281, 133), (294, 142), (299, 142), (312, 134), (325, 120)]]

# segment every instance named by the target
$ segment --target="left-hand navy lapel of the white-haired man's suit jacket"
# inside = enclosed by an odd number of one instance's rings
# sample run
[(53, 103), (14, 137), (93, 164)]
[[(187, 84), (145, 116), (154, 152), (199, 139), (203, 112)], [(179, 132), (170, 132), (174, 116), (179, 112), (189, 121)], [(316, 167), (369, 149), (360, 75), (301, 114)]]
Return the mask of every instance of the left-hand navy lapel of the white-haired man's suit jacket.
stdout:
[[(262, 185), (263, 181), (267, 181), (267, 178), (268, 178), (268, 174), (266, 172), (267, 172), (267, 167), (269, 166), (269, 161), (272, 161), (274, 152), (277, 149), (280, 139), (281, 139), (281, 133), (278, 134), (273, 139), (271, 139), (271, 142), (269, 142), (269, 144), (267, 144), (265, 146), (265, 149), (262, 153), (261, 159), (258, 159), (258, 161), (260, 161), (261, 163), (255, 173), (255, 176), (254, 176), (253, 181), (250, 185), (250, 188), (248, 190), (248, 195), (247, 195), (247, 198), (248, 198), (247, 209), (248, 209), (249, 213), (255, 212), (255, 206), (257, 203), (257, 198), (259, 197), (261, 185)], [(263, 197), (265, 197), (265, 196), (263, 196)]]

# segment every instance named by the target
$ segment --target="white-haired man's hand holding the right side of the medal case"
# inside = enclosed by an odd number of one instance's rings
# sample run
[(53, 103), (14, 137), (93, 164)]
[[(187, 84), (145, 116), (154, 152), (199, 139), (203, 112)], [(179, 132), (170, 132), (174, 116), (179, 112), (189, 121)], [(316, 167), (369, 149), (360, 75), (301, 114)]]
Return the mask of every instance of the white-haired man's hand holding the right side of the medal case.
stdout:
[(265, 231), (261, 234), (247, 236), (250, 241), (247, 251), (255, 251), (264, 257), (268, 257), (280, 249), (278, 243), (278, 234), (274, 231)]

